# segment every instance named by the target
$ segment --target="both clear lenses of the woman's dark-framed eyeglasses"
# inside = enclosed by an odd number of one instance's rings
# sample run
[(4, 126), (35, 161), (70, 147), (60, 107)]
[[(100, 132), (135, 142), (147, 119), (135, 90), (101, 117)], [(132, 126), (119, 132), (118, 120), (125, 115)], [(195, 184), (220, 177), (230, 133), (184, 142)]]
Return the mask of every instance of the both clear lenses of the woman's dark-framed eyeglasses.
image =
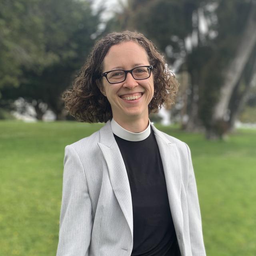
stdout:
[[(138, 67), (132, 70), (132, 76), (134, 79), (146, 79), (150, 76), (150, 68), (148, 67)], [(124, 70), (114, 70), (107, 74), (108, 81), (110, 83), (118, 83), (125, 80)]]

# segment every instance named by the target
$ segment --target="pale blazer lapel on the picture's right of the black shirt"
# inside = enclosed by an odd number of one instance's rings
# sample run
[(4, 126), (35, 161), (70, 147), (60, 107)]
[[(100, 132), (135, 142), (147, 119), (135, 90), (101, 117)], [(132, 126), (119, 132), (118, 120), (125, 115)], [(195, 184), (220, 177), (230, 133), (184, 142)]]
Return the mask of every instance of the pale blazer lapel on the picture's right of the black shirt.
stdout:
[(179, 152), (176, 144), (170, 142), (153, 125), (151, 127), (154, 131), (162, 159), (172, 220), (176, 234), (180, 236), (183, 230), (183, 214), (180, 200), (182, 173)]

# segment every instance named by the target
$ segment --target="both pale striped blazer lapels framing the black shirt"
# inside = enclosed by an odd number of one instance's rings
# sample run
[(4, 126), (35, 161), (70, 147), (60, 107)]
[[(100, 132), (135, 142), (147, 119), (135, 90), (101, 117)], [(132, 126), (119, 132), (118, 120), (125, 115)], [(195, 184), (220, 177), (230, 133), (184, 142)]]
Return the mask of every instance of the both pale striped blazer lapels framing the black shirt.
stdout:
[[(151, 126), (162, 158), (170, 210), (176, 234), (182, 234), (183, 213), (180, 198), (182, 170), (180, 154), (175, 143), (171, 142), (152, 124)], [(118, 203), (128, 222), (133, 238), (132, 196), (130, 192), (130, 184), (121, 152), (111, 130), (110, 121), (100, 129), (100, 142), (98, 142), (98, 145), (102, 150), (108, 166), (110, 182), (114, 194), (116, 195)]]

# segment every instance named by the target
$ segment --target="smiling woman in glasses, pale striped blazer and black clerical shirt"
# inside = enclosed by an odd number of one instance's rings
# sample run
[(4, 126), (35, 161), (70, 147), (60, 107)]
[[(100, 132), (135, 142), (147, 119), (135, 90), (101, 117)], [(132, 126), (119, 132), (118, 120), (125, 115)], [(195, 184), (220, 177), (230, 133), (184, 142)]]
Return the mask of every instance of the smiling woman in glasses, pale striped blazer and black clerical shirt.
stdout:
[(106, 125), (66, 146), (58, 256), (205, 255), (190, 150), (148, 119), (177, 88), (142, 34), (95, 44), (64, 100)]

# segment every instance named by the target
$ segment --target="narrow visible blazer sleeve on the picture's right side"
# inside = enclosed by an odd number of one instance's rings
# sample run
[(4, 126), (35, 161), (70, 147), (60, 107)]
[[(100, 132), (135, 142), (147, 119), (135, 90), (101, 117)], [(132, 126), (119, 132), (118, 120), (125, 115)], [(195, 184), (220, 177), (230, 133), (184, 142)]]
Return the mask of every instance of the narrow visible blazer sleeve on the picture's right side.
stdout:
[(190, 242), (193, 256), (206, 256), (204, 248), (204, 240), (202, 234), (202, 220), (200, 214), (200, 206), (198, 200), (198, 193), (196, 188), (196, 179), (194, 175), (194, 169), (192, 165), (191, 153), (188, 145), (188, 188), (187, 188), (187, 199), (188, 199), (188, 218), (189, 218), (189, 232)]

